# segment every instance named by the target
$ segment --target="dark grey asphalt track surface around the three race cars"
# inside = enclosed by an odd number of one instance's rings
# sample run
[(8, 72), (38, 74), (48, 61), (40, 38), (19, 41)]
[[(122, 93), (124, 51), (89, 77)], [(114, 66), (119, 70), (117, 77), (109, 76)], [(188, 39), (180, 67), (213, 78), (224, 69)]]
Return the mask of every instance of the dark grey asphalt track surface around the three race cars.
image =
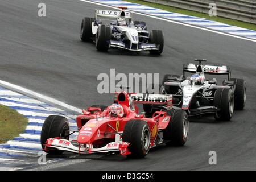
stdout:
[[(0, 80), (85, 108), (112, 103), (110, 94), (97, 93), (97, 76), (116, 73), (179, 73), (194, 58), (232, 67), (233, 77), (247, 82), (247, 103), (230, 122), (213, 117), (192, 119), (185, 147), (160, 146), (145, 159), (118, 155), (51, 169), (172, 170), (256, 169), (256, 43), (134, 14), (148, 28), (164, 31), (160, 57), (117, 50), (98, 52), (80, 41), (80, 23), (94, 9), (109, 9), (79, 0), (45, 0), (47, 17), (39, 18), (39, 0), (0, 0)], [(217, 165), (208, 164), (208, 152), (217, 152)]]

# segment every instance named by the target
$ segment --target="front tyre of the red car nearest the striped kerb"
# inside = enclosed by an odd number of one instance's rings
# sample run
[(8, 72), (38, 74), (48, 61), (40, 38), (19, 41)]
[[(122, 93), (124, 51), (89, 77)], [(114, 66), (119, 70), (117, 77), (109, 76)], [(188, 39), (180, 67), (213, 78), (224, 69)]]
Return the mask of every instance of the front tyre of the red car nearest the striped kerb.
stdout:
[[(60, 137), (60, 139), (69, 140), (69, 124), (68, 119), (59, 115), (49, 115), (43, 123), (41, 131), (41, 145), (44, 150), (44, 144), (48, 138)], [(48, 154), (59, 155), (63, 151), (51, 148)]]

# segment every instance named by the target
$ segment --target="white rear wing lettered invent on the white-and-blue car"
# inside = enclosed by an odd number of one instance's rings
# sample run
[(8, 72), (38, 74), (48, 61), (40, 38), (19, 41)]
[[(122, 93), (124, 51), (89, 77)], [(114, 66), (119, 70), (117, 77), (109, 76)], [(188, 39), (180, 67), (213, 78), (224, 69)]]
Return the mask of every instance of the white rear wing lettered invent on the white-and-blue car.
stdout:
[[(131, 21), (133, 18), (133, 14), (130, 11), (125, 12), (125, 19)], [(114, 10), (95, 10), (95, 18), (103, 18), (103, 20), (113, 20), (117, 19), (118, 15), (121, 11), (114, 11)]]

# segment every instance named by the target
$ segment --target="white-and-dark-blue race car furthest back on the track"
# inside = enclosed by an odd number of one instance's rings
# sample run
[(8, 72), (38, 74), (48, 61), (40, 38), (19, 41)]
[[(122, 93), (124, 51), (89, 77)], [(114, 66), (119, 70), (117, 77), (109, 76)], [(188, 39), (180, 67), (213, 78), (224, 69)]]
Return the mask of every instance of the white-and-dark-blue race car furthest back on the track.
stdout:
[[(161, 30), (147, 31), (145, 22), (132, 21), (132, 14), (120, 7), (121, 11), (95, 10), (95, 18), (83, 18), (80, 38), (93, 41), (98, 51), (108, 51), (110, 47), (128, 51), (150, 51), (160, 55), (164, 48)], [(102, 21), (107, 23), (103, 24)]]

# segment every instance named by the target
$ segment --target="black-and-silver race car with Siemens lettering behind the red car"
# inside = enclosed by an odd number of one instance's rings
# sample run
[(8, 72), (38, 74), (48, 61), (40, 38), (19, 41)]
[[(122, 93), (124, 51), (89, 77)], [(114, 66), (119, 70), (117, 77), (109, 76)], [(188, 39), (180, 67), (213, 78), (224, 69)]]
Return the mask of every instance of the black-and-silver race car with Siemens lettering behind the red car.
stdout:
[[(172, 94), (174, 109), (185, 110), (189, 116), (213, 113), (216, 120), (229, 121), (234, 109), (245, 107), (245, 80), (231, 78), (231, 69), (225, 65), (202, 65), (206, 60), (195, 61), (199, 64), (183, 65), (181, 76), (165, 75), (159, 94)], [(186, 73), (192, 76), (186, 77)], [(216, 77), (221, 75), (227, 77), (218, 82)], [(144, 110), (150, 114), (159, 108), (144, 106)]]

